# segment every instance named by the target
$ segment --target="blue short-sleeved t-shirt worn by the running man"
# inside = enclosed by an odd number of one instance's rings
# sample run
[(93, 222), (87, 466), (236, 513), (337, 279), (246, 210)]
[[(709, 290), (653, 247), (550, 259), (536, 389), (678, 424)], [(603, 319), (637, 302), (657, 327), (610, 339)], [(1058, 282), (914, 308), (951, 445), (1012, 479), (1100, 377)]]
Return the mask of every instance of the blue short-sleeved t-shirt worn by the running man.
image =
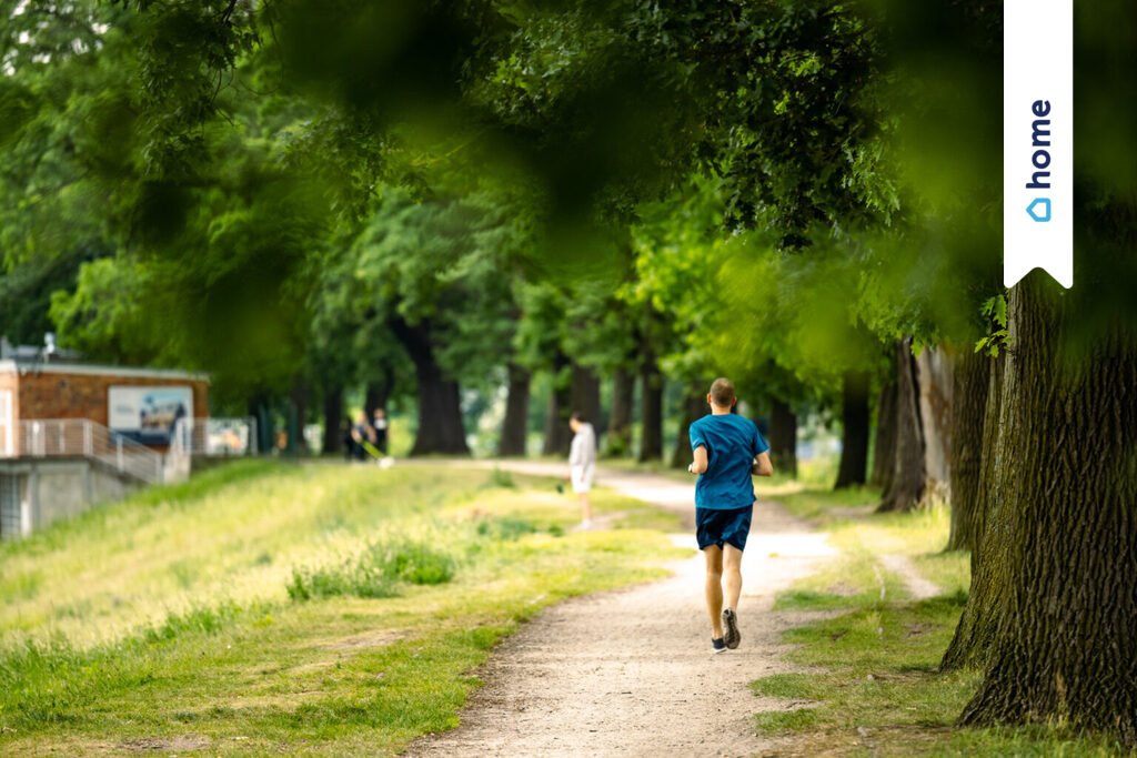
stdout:
[(695, 484), (695, 506), (715, 510), (754, 505), (750, 466), (770, 449), (754, 422), (738, 414), (704, 416), (691, 424), (691, 450), (707, 449), (707, 470)]

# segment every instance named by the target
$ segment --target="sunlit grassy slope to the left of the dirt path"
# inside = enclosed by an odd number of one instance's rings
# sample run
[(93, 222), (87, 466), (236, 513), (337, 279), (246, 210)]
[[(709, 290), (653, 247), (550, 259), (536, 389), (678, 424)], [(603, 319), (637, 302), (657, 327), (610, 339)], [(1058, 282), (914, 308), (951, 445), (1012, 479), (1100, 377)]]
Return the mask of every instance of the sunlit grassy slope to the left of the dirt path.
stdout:
[[(611, 493), (597, 508), (675, 526)], [(656, 531), (565, 534), (576, 517), (540, 480), (240, 464), (5, 545), (0, 753), (395, 751), (455, 725), (518, 622), (681, 555)], [(288, 599), (296, 567), (350, 573), (408, 541), (453, 581)]]

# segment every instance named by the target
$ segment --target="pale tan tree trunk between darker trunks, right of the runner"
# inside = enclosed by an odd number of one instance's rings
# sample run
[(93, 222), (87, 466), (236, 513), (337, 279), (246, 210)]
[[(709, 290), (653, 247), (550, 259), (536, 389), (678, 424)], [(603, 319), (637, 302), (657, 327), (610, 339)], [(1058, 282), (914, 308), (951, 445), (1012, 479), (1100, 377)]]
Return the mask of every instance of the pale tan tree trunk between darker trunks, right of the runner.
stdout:
[(924, 439), (924, 495), (951, 502), (952, 455), (952, 356), (941, 348), (928, 348), (916, 356), (920, 388), (920, 423)]

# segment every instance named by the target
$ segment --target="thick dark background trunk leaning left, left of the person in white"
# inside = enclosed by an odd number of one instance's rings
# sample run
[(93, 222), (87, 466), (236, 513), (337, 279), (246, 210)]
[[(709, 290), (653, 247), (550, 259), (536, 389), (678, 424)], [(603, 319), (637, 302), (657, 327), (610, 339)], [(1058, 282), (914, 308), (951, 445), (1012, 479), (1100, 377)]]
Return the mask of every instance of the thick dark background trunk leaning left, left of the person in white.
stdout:
[(412, 326), (400, 317), (391, 318), (389, 323), (391, 332), (415, 364), (418, 384), (418, 432), (410, 455), (468, 456), (458, 383), (447, 378), (438, 365), (430, 324), (424, 320)]

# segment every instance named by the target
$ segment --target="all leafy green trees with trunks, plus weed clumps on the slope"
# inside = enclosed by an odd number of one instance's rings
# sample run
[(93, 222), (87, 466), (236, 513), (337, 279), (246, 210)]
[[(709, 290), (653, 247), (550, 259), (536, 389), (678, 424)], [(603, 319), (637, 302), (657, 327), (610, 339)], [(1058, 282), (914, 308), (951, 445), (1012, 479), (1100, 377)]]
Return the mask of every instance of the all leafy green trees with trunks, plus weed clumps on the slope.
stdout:
[[(327, 451), (351, 405), (414, 455), (580, 409), (681, 464), (728, 373), (783, 470), (821, 417), (838, 489), (949, 503), (960, 724), (1135, 745), (1134, 13), (1076, 9), (1077, 284), (1006, 291), (998, 3), (17, 0), (0, 331)], [(389, 548), (289, 581), (395, 591)]]

